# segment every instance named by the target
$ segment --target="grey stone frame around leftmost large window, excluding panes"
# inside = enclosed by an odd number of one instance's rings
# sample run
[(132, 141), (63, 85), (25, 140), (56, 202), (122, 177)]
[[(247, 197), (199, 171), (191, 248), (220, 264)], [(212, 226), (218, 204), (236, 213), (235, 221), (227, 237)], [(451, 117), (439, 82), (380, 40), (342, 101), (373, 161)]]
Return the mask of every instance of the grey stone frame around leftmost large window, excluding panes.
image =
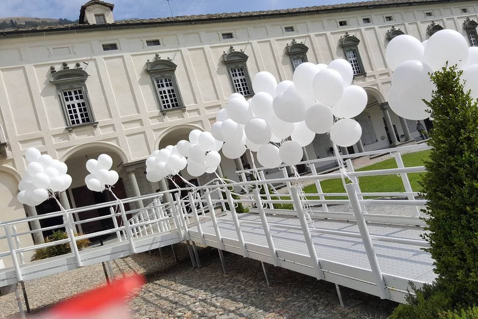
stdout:
[[(50, 67), (50, 83), (56, 86), (58, 98), (60, 100), (61, 109), (63, 113), (63, 118), (65, 120), (66, 129), (69, 132), (72, 132), (76, 127), (92, 125), (93, 127), (98, 126), (98, 121), (95, 120), (95, 114), (91, 107), (90, 96), (88, 94), (88, 88), (86, 86), (86, 80), (89, 77), (89, 74), (83, 70), (80, 63), (75, 64), (74, 69), (70, 69), (66, 62), (62, 64), (63, 69), (56, 71), (54, 66)], [(64, 91), (71, 91), (75, 89), (81, 89), (83, 92), (84, 100), (86, 103), (86, 108), (88, 115), (90, 117), (90, 122), (81, 123), (81, 124), (72, 124), (70, 116), (68, 114), (67, 106), (65, 99), (63, 97)]]

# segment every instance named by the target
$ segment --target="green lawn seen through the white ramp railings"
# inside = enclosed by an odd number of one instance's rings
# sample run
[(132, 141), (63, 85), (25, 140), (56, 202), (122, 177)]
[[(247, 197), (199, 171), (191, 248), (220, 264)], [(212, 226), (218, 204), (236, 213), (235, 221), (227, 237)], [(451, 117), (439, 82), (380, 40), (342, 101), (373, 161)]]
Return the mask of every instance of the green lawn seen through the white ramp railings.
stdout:
[[(402, 155), (402, 160), (405, 167), (421, 166), (425, 160), (428, 160), (430, 150), (420, 151)], [(397, 168), (395, 159), (383, 160), (381, 162), (371, 164), (357, 171)], [(421, 186), (418, 184), (421, 173), (409, 173), (408, 179), (413, 191), (421, 191)], [(397, 175), (382, 175), (382, 176), (362, 176), (359, 177), (360, 189), (362, 192), (399, 192), (405, 191), (400, 176)], [(326, 179), (321, 181), (322, 191), (324, 193), (340, 193), (345, 192), (342, 180), (340, 178)], [(317, 188), (315, 184), (304, 187), (306, 193), (316, 193)], [(310, 199), (315, 199), (312, 196)], [(343, 197), (326, 196), (326, 199), (343, 199)]]

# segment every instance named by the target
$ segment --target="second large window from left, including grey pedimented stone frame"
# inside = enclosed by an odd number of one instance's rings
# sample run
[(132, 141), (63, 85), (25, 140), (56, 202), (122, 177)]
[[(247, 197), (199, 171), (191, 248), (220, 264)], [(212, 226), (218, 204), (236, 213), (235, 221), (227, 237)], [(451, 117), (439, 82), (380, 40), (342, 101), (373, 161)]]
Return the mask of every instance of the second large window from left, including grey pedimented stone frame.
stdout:
[(174, 72), (177, 65), (170, 59), (164, 60), (155, 55), (152, 62), (147, 62), (147, 69), (151, 76), (151, 81), (156, 89), (161, 113), (183, 107), (181, 93)]

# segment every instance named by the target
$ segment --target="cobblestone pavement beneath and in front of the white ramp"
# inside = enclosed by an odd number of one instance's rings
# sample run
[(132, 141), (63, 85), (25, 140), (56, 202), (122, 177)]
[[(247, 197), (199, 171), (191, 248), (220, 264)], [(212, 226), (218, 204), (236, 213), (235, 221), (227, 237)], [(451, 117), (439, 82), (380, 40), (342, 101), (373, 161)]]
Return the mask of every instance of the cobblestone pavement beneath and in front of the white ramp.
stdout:
[[(176, 264), (169, 247), (163, 258), (155, 250), (112, 262), (117, 276), (140, 272), (147, 284), (129, 303), (136, 319), (385, 319), (396, 303), (353, 290), (351, 299), (362, 303), (351, 309), (339, 306), (335, 285), (286, 269), (268, 266), (267, 286), (258, 261), (225, 254), (227, 275), (218, 252), (199, 248), (202, 268), (192, 268), (184, 244), (177, 244)], [(34, 312), (81, 291), (105, 284), (101, 265), (86, 266), (25, 283)], [(18, 313), (14, 294), (0, 297), (0, 318)]]

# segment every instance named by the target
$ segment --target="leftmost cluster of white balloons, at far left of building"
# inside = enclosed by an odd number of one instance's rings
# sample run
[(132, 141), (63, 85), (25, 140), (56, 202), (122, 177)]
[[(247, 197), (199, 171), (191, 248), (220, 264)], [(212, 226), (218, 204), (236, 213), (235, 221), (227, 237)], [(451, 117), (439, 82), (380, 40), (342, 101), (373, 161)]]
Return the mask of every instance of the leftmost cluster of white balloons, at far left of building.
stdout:
[(68, 166), (51, 156), (41, 155), (35, 148), (25, 153), (28, 165), (18, 184), (20, 192), (17, 199), (20, 203), (36, 206), (54, 196), (55, 192), (66, 190), (71, 185), (71, 176), (67, 174)]

